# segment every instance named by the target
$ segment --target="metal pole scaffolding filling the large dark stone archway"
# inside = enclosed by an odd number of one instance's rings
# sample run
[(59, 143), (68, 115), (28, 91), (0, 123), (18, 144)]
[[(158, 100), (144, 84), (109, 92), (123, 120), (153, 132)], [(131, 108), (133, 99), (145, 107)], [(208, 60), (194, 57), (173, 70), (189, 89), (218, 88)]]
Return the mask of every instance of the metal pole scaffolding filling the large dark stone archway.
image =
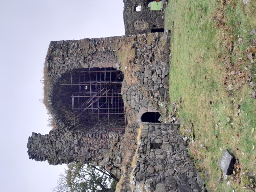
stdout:
[(123, 130), (126, 127), (121, 95), (123, 74), (114, 68), (88, 68), (70, 72), (69, 94), (74, 126)]

